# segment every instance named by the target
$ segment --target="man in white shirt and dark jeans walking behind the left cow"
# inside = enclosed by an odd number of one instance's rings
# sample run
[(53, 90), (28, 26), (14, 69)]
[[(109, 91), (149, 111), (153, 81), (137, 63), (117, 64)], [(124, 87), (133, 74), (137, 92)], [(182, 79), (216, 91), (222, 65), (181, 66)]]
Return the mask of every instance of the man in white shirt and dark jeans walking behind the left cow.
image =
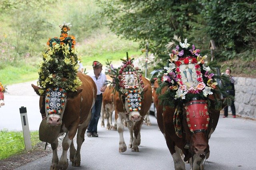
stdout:
[[(102, 64), (98, 61), (93, 61), (92, 63), (93, 72), (88, 73), (90, 77), (94, 80), (97, 86), (97, 98), (95, 101), (94, 106), (92, 107), (92, 115), (91, 120), (87, 128), (87, 136), (98, 137), (97, 134), (97, 125), (100, 118), (100, 111), (102, 105), (102, 93), (106, 90), (106, 75), (101, 73), (102, 71)], [(88, 87), (89, 88), (89, 87)]]

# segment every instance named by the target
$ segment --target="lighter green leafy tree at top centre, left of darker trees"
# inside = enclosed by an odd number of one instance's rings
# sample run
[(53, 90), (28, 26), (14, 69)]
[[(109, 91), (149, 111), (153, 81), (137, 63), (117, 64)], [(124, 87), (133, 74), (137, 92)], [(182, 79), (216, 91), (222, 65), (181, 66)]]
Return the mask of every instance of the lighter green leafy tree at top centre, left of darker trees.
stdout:
[[(162, 52), (179, 27), (189, 31), (189, 21), (196, 22), (196, 0), (98, 0), (107, 24), (118, 36), (146, 42), (154, 52)], [(185, 32), (186, 35), (186, 32)]]

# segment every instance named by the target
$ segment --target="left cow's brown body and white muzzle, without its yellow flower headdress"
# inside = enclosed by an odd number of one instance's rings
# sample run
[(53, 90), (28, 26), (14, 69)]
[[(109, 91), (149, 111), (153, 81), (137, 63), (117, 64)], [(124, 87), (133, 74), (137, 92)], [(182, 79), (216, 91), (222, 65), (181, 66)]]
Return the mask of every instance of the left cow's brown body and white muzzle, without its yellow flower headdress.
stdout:
[[(49, 95), (51, 98), (52, 94), (44, 93), (44, 95), (40, 95), (40, 113), (42, 114), (42, 117), (46, 119), (47, 125), (50, 127), (60, 127), (60, 131), (57, 132), (57, 134), (59, 134), (58, 136), (66, 132), (62, 142), (63, 151), (60, 160), (57, 155), (58, 138), (56, 137), (51, 143), (53, 150), (52, 164), (50, 166), (51, 170), (68, 168), (68, 149), (70, 149), (70, 161), (72, 161), (72, 166), (80, 166), (80, 149), (84, 142), (84, 134), (90, 121), (91, 109), (96, 100), (97, 88), (92, 78), (88, 75), (78, 72), (77, 76), (82, 81), (82, 85), (77, 91), (66, 92), (66, 97), (64, 97), (66, 98), (66, 102), (63, 104), (64, 107), (60, 115), (48, 114), (47, 107), (49, 107), (49, 105), (47, 105), (47, 99)], [(32, 87), (39, 95), (38, 90), (40, 87), (33, 84)], [(77, 150), (73, 143), (73, 138), (76, 135), (76, 132)]]

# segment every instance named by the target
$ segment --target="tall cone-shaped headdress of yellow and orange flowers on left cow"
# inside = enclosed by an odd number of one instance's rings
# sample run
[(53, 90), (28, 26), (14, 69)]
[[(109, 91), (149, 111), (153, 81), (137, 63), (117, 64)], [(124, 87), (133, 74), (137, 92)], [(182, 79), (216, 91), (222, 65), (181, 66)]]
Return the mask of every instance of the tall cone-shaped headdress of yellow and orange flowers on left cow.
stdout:
[(76, 44), (74, 36), (68, 36), (72, 25), (64, 22), (60, 25), (60, 38), (50, 38), (47, 42), (47, 50), (43, 52), (43, 61), (38, 70), (38, 85), (42, 87), (39, 92), (44, 93), (48, 88), (62, 88), (76, 91), (82, 85), (76, 73), (79, 68)]

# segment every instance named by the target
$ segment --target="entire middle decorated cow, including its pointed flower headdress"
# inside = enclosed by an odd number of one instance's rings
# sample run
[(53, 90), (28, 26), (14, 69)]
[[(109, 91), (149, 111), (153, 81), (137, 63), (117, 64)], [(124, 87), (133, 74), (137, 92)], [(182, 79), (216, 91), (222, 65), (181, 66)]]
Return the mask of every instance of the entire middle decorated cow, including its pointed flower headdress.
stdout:
[(133, 59), (128, 58), (128, 53), (126, 60), (122, 61), (123, 65), (117, 71), (114, 91), (115, 119), (120, 136), (119, 152), (126, 151), (123, 119), (126, 120), (130, 131), (128, 147), (138, 152), (140, 128), (152, 101), (151, 85), (150, 81), (142, 77), (138, 67), (134, 68)]

